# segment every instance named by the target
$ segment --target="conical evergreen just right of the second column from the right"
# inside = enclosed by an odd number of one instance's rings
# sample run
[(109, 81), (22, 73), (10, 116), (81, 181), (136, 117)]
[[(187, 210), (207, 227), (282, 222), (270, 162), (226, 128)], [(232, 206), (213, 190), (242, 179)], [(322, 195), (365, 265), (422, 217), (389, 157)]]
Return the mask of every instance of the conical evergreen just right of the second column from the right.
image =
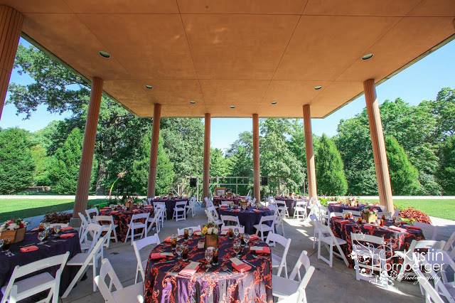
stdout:
[(318, 192), (323, 195), (343, 196), (348, 190), (340, 152), (325, 134), (316, 149), (316, 181)]

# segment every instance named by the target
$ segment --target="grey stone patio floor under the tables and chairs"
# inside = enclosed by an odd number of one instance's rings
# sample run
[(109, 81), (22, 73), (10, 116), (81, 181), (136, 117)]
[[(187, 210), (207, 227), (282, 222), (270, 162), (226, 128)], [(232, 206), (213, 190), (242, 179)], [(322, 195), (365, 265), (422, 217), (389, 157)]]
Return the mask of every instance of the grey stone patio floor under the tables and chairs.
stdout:
[[(165, 220), (164, 228), (159, 233), (163, 240), (168, 235), (177, 232), (177, 228), (207, 223), (203, 209), (196, 208), (196, 216), (186, 221)], [(441, 220), (437, 225), (445, 225), (446, 233), (455, 230), (455, 222)], [(436, 225), (435, 224), (435, 225)], [(310, 256), (311, 265), (316, 267), (313, 277), (306, 289), (308, 302), (424, 302), (419, 286), (409, 282), (395, 282), (392, 289), (382, 289), (366, 281), (355, 280), (355, 271), (344, 265), (342, 260), (334, 258), (333, 267), (318, 260), (317, 248), (313, 249), (311, 237), (313, 227), (304, 223), (303, 220), (287, 219), (284, 226), (284, 234), (291, 238), (291, 248), (287, 255), (288, 272), (299, 257), (302, 250), (306, 250)], [(150, 234), (151, 235), (151, 234)], [(150, 250), (150, 249), (149, 249)], [(273, 249), (274, 250), (274, 249)], [(142, 252), (143, 260), (149, 255), (149, 251)], [(134, 283), (137, 260), (132, 245), (128, 243), (111, 243), (110, 248), (105, 250), (105, 257), (109, 259), (124, 286)], [(274, 270), (274, 274), (276, 274)], [(70, 296), (63, 302), (104, 302), (100, 292), (92, 292), (91, 270), (87, 273), (88, 278), (76, 285)], [(127, 302), (125, 302), (127, 303)]]

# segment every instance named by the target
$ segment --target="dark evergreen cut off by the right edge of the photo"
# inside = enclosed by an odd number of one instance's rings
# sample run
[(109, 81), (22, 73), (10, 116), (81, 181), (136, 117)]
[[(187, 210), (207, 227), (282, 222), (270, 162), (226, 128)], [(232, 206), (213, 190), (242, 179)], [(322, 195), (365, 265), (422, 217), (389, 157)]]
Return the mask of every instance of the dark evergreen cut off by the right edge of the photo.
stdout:
[(448, 137), (441, 147), (441, 165), (438, 171), (439, 183), (444, 195), (455, 195), (455, 136)]

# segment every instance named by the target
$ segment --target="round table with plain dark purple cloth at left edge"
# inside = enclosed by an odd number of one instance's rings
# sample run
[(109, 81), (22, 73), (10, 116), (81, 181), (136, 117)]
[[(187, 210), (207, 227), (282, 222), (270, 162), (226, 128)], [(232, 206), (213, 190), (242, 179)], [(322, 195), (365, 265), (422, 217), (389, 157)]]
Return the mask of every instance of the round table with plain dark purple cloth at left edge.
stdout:
[[(9, 278), (13, 274), (14, 267), (16, 265), (26, 265), (31, 262), (35, 262), (46, 257), (53, 257), (55, 255), (62, 255), (65, 252), (69, 251), (70, 256), (68, 260), (74, 257), (77, 253), (80, 252), (79, 244), (79, 235), (76, 230), (69, 230), (63, 233), (75, 233), (72, 238), (60, 239), (51, 235), (47, 240), (45, 240), (44, 245), (36, 245), (39, 242), (38, 240), (38, 231), (27, 231), (23, 241), (19, 243), (14, 243), (9, 249), (14, 256), (8, 257), (5, 252), (0, 250), (0, 285), (6, 285), (9, 282)], [(21, 252), (20, 246), (35, 244), (38, 246), (38, 250), (32, 252)], [(36, 274), (41, 272), (49, 272), (50, 275), (55, 276), (57, 272), (57, 267), (49, 267), (45, 270), (36, 272)], [(75, 277), (79, 267), (77, 266), (66, 266), (63, 269), (62, 275), (60, 277), (60, 294), (65, 292), (70, 282)], [(48, 292), (45, 292), (47, 294)], [(0, 299), (1, 299), (0, 292)], [(42, 296), (41, 296), (42, 297)], [(40, 294), (37, 297), (32, 297), (31, 302), (36, 302), (40, 298)], [(22, 302), (22, 301), (21, 301)], [(24, 302), (26, 302), (24, 300)]]

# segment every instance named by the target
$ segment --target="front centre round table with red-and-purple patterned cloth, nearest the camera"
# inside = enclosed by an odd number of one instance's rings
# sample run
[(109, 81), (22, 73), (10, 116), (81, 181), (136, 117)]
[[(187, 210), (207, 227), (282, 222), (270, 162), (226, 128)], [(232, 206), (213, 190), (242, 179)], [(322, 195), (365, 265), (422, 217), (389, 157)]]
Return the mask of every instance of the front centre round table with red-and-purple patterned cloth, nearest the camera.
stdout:
[[(178, 275), (189, 261), (177, 260), (176, 257), (166, 261), (151, 259), (154, 252), (171, 252), (171, 246), (161, 243), (151, 251), (144, 283), (146, 302), (273, 302), (272, 258), (269, 254), (253, 255), (244, 249), (239, 259), (247, 260), (255, 267), (247, 272), (237, 272), (232, 269), (229, 260), (235, 257), (232, 240), (220, 235), (219, 265), (212, 265), (206, 272), (205, 250), (198, 249), (198, 242), (203, 239), (198, 237), (187, 240), (188, 260), (200, 262), (198, 271), (192, 277)], [(181, 241), (183, 240), (179, 240)], [(267, 246), (261, 240), (250, 241), (249, 244)], [(232, 273), (223, 270), (224, 266)]]

